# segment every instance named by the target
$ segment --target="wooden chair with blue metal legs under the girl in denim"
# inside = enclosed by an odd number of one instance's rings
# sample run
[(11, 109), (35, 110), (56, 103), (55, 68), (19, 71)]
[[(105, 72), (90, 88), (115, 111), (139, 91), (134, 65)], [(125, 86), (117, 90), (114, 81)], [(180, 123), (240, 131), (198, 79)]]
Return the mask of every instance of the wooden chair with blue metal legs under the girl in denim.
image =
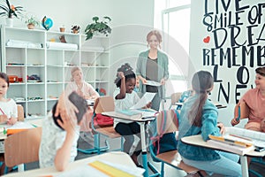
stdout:
[[(178, 120), (176, 119), (176, 112), (174, 110), (169, 110), (167, 111), (169, 113), (167, 113), (167, 116), (168, 118), (166, 120), (161, 120), (159, 118), (162, 117), (162, 112), (159, 113), (159, 115), (157, 116), (156, 118), (156, 128), (157, 130), (159, 130), (160, 128), (159, 127), (164, 127), (163, 128), (163, 134), (167, 134), (167, 133), (171, 133), (171, 132), (177, 132), (178, 131)], [(161, 134), (162, 132), (160, 131), (157, 131), (157, 134)], [(149, 147), (149, 150), (150, 150), (150, 154), (151, 154), (151, 157), (157, 161), (157, 162), (161, 162), (161, 171), (160, 173), (155, 169), (155, 166), (152, 165), (150, 162), (148, 162), (148, 166), (149, 168), (152, 170), (152, 172), (154, 174), (150, 175), (150, 176), (162, 176), (164, 175), (164, 164), (166, 165), (170, 165), (174, 168), (177, 168), (179, 170), (184, 170), (186, 173), (188, 174), (193, 174), (193, 173), (196, 173), (198, 171), (200, 171), (199, 169), (193, 167), (193, 166), (190, 166), (190, 165), (186, 165), (179, 153), (178, 153), (178, 150), (170, 150), (170, 151), (167, 151), (167, 152), (163, 152), (163, 153), (160, 153), (158, 155), (155, 155), (155, 152), (154, 152), (154, 145), (152, 143), (152, 140), (150, 140), (150, 147)]]

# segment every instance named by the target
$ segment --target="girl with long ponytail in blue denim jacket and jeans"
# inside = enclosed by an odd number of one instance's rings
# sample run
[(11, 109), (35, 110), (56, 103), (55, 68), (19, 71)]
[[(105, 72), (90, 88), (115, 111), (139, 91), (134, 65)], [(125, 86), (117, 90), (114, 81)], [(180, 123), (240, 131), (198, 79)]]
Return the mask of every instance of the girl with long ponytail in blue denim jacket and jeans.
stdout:
[[(201, 135), (204, 141), (208, 135), (221, 135), (224, 131), (222, 123), (217, 123), (218, 112), (214, 104), (208, 100), (208, 93), (213, 89), (214, 79), (211, 73), (200, 71), (193, 75), (194, 96), (183, 104), (178, 127), (178, 139), (190, 135)], [(218, 128), (220, 127), (220, 129)], [(219, 150), (188, 145), (178, 141), (178, 152), (187, 165), (226, 176), (241, 176), (239, 156)]]

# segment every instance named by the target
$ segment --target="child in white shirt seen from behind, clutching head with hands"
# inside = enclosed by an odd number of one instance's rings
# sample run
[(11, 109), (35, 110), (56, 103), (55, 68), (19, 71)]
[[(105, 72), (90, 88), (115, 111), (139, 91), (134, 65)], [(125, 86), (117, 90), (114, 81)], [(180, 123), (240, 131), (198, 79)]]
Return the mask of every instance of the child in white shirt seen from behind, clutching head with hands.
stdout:
[[(67, 96), (67, 97), (66, 97)], [(82, 98), (78, 98), (80, 100)], [(85, 111), (87, 103), (84, 101)], [(79, 107), (84, 107), (79, 106)], [(67, 108), (67, 111), (66, 111)], [(81, 112), (67, 94), (62, 94), (48, 118), (42, 123), (42, 142), (39, 150), (40, 167), (55, 166), (58, 171), (64, 171), (67, 165), (77, 156), (79, 125), (76, 112)], [(60, 115), (61, 119), (56, 119)], [(83, 115), (81, 116), (81, 118)]]

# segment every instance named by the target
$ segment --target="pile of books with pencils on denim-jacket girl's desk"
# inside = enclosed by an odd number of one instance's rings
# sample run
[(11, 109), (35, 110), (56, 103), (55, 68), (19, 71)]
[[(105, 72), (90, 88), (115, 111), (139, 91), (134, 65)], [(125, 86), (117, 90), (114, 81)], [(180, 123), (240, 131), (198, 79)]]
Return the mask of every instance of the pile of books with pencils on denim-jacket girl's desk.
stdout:
[(226, 127), (225, 135), (209, 135), (208, 144), (219, 150), (244, 155), (255, 148), (265, 148), (265, 134), (239, 127)]

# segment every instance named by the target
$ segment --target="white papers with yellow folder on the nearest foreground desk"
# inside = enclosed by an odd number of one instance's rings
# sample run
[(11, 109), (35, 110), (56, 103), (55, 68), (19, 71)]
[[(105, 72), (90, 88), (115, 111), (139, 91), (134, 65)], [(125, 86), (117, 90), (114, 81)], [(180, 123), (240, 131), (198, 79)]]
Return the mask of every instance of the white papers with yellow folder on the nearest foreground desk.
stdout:
[(103, 160), (95, 160), (88, 165), (81, 165), (71, 171), (60, 173), (55, 175), (57, 177), (68, 176), (80, 176), (80, 177), (110, 177), (110, 176), (122, 176), (122, 177), (138, 177), (144, 173), (143, 168), (125, 166), (120, 164), (113, 164)]

